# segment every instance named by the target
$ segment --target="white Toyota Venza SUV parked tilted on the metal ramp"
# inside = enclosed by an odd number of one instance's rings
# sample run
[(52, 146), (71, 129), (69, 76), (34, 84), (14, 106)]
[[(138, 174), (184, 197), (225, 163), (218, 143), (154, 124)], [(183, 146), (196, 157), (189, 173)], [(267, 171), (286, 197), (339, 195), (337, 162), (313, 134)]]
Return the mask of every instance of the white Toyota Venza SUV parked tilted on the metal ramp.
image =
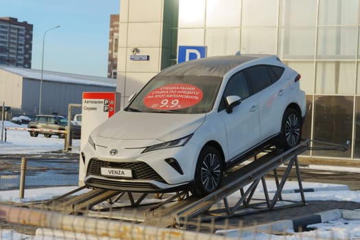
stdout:
[(84, 181), (120, 191), (211, 193), (226, 169), (259, 147), (299, 143), (306, 113), (299, 80), (269, 55), (169, 67), (91, 132)]

